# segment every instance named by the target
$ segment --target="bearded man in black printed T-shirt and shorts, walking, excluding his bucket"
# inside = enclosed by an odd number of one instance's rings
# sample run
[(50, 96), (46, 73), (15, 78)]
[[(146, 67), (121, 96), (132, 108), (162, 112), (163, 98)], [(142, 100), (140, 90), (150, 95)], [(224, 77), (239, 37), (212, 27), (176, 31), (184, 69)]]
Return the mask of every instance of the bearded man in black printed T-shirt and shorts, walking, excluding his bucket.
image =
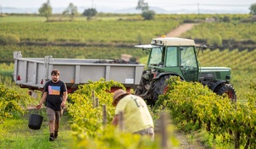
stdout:
[(42, 103), (46, 102), (50, 131), (49, 141), (54, 141), (58, 137), (59, 121), (64, 111), (68, 93), (64, 82), (59, 80), (58, 69), (53, 69), (51, 76), (52, 80), (45, 84), (42, 99), (36, 108), (42, 108)]

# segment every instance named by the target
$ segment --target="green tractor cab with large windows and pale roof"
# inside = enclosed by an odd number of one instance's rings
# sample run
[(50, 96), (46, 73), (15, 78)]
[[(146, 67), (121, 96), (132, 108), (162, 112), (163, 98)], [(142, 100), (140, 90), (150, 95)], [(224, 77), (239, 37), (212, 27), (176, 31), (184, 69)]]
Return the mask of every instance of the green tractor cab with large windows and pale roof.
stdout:
[(153, 69), (156, 78), (162, 74), (174, 74), (186, 81), (198, 81), (198, 60), (193, 40), (159, 37), (153, 38), (151, 45), (136, 47), (149, 52), (147, 69)]

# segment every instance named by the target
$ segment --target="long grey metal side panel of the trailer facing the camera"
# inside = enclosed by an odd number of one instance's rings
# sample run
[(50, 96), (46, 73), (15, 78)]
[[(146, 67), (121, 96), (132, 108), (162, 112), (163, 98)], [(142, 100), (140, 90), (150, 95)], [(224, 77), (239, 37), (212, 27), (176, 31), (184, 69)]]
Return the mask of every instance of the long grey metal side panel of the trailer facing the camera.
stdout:
[(51, 71), (60, 71), (59, 79), (64, 81), (67, 87), (76, 88), (81, 84), (88, 83), (89, 80), (97, 81), (101, 78), (105, 80), (115, 80), (122, 83), (125, 87), (135, 88), (139, 85), (144, 65), (125, 65), (125, 64), (56, 64), (49, 65), (48, 78)]

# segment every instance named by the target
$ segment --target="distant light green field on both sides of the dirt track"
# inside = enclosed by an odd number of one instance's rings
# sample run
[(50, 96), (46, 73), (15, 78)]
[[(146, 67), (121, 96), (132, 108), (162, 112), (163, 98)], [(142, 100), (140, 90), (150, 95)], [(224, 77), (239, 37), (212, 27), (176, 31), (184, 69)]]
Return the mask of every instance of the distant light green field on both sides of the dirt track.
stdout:
[[(92, 20), (73, 22), (42, 22), (40, 17), (26, 19), (14, 18), (14, 21), (1, 22), (0, 35), (11, 34), (18, 36), (20, 41), (78, 41), (94, 43), (136, 43), (138, 35), (149, 37), (161, 36), (168, 33), (182, 23), (184, 19), (223, 18), (228, 16), (231, 20), (242, 20), (250, 17), (248, 14), (210, 15), (210, 14), (158, 14), (156, 20)], [(131, 16), (128, 16), (131, 18)], [(5, 19), (5, 18), (3, 18)], [(8, 17), (7, 17), (8, 19)], [(12, 19), (12, 17), (10, 17)], [(26, 21), (22, 21), (22, 19)], [(19, 20), (19, 21), (17, 21)], [(168, 27), (167, 27), (168, 26)], [(219, 33), (223, 39), (253, 40), (255, 24), (214, 23), (202, 24), (185, 36), (191, 38), (207, 39)], [(202, 33), (203, 30), (203, 34)], [(236, 30), (236, 31), (233, 31)], [(54, 32), (54, 34), (53, 34)]]

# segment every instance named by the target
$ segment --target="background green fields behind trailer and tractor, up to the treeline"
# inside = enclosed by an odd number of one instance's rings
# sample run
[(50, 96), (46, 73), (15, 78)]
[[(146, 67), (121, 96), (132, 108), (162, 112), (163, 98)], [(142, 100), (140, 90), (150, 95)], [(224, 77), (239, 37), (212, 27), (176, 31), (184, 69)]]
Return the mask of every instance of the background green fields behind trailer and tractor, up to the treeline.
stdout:
[[(253, 30), (256, 24), (241, 22), (250, 17), (248, 14), (158, 14), (156, 19), (147, 21), (137, 14), (98, 14), (89, 21), (82, 16), (75, 21), (58, 21), (61, 17), (55, 16), (53, 22), (44, 22), (45, 19), (38, 16), (12, 15), (1, 18), (0, 35), (17, 36), (20, 42), (3, 44), (0, 61), (12, 63), (13, 52), (21, 51), (24, 58), (52, 55), (53, 58), (104, 59), (130, 54), (146, 63), (147, 55), (134, 45), (148, 44), (153, 37), (165, 35), (187, 20), (202, 21), (211, 17), (218, 20), (229, 17), (231, 22), (200, 23), (182, 36), (209, 41), (208, 45), (213, 47), (210, 43), (256, 41)], [(248, 86), (256, 77), (253, 73), (256, 70), (255, 51), (240, 47), (216, 49), (200, 53), (198, 58), (201, 66), (230, 67), (231, 83), (237, 90), (238, 99), (244, 100), (244, 93), (250, 92)]]

